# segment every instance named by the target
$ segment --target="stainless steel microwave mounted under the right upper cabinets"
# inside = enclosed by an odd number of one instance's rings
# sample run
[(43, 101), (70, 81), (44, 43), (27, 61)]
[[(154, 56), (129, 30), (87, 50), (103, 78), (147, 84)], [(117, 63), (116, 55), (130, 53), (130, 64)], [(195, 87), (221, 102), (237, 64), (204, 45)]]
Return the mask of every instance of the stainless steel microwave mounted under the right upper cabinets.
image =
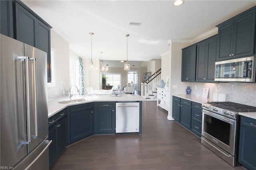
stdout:
[(255, 82), (254, 56), (215, 62), (215, 81)]

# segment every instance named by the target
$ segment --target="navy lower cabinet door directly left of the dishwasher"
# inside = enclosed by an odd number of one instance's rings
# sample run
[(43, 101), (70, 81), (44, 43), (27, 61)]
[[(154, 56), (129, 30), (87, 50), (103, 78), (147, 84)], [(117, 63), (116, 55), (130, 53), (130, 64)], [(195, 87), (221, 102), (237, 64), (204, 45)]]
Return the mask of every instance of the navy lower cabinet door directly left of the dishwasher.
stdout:
[(98, 108), (96, 133), (115, 133), (115, 111), (114, 108)]

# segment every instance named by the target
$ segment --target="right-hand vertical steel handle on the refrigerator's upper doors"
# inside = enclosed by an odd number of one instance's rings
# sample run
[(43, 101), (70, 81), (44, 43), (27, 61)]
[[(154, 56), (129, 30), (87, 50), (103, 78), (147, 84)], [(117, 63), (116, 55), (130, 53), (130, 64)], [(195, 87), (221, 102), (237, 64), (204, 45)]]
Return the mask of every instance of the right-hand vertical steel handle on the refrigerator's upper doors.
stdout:
[(37, 123), (37, 98), (36, 98), (36, 58), (30, 58), (33, 61), (33, 86), (34, 86), (34, 114), (35, 114), (35, 135), (32, 138), (38, 138), (38, 123)]

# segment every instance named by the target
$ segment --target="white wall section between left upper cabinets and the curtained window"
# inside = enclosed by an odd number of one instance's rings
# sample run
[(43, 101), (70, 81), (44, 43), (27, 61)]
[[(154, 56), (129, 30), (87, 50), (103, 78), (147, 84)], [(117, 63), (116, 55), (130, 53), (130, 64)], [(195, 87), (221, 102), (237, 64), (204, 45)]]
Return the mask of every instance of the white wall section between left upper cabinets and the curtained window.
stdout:
[(56, 82), (48, 86), (48, 99), (64, 95), (69, 89), (69, 43), (51, 29), (51, 47), (55, 49)]

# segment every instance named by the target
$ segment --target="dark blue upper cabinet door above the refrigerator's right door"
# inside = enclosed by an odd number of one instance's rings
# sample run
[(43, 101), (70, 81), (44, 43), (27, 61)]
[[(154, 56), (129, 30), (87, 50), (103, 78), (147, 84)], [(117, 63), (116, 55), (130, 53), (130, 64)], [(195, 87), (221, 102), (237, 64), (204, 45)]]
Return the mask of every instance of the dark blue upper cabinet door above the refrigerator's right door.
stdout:
[(17, 40), (37, 47), (36, 17), (16, 3), (16, 36)]

